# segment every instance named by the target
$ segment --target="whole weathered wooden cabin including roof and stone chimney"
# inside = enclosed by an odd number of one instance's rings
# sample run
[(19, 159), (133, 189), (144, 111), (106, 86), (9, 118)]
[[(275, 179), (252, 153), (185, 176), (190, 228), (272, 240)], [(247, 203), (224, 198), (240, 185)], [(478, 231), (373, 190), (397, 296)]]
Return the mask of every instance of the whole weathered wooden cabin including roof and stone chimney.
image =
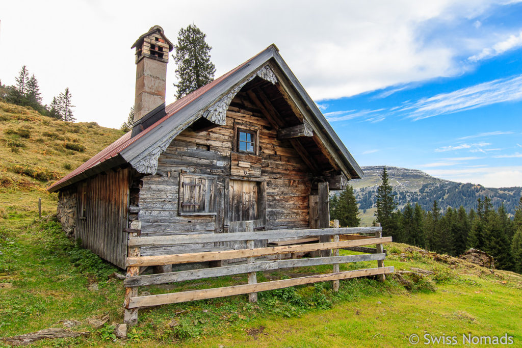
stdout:
[[(318, 219), (328, 187), (363, 173), (275, 45), (169, 105), (172, 44), (155, 26), (133, 47), (132, 131), (49, 188), (69, 235), (125, 268), (129, 227), (142, 236), (241, 232), (246, 222), (254, 231), (327, 227)], [(141, 256), (243, 247), (149, 246)]]

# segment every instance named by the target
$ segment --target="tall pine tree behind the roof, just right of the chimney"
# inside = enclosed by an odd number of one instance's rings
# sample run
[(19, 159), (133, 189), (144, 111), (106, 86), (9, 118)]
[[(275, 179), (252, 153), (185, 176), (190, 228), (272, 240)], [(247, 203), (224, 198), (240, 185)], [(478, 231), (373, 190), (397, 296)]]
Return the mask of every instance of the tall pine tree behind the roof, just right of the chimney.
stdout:
[(176, 54), (172, 55), (177, 66), (176, 77), (179, 79), (179, 83), (174, 84), (177, 87), (177, 99), (214, 79), (216, 67), (210, 62), (212, 47), (205, 41), (206, 36), (194, 24), (181, 28), (178, 33)]

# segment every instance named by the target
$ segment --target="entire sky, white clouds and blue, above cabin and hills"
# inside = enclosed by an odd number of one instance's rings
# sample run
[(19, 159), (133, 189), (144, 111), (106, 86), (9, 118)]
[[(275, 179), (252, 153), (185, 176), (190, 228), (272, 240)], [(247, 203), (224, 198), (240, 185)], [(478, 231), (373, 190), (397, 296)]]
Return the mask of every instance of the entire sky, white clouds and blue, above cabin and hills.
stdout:
[[(195, 23), (216, 76), (275, 43), (360, 165), (522, 186), (521, 1), (4, 1), (0, 79), (25, 64), (44, 103), (69, 87), (79, 122), (117, 128), (134, 104), (131, 45)], [(171, 61), (167, 103), (175, 81)]]

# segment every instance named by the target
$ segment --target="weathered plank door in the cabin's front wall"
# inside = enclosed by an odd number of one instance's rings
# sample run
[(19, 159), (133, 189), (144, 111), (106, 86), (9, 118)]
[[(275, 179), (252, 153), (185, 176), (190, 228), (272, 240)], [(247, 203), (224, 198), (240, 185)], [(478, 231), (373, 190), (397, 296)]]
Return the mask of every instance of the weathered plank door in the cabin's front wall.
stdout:
[[(229, 232), (246, 232), (247, 222), (252, 222), (254, 231), (265, 229), (265, 190), (264, 183), (255, 181), (233, 180), (229, 182)], [(255, 241), (254, 247), (266, 246), (266, 241)], [(232, 241), (229, 247), (246, 248), (245, 241)], [(244, 261), (233, 259), (230, 262)]]

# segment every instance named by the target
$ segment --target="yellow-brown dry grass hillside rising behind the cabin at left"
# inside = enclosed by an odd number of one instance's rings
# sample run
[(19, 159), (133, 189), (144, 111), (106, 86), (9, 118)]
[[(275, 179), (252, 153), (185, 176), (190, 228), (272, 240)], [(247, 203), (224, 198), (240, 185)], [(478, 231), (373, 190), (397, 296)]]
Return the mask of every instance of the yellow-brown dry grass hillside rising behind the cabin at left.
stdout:
[(57, 197), (45, 188), (122, 135), (0, 102), (0, 219), (33, 214), (39, 197), (44, 213), (54, 212)]

